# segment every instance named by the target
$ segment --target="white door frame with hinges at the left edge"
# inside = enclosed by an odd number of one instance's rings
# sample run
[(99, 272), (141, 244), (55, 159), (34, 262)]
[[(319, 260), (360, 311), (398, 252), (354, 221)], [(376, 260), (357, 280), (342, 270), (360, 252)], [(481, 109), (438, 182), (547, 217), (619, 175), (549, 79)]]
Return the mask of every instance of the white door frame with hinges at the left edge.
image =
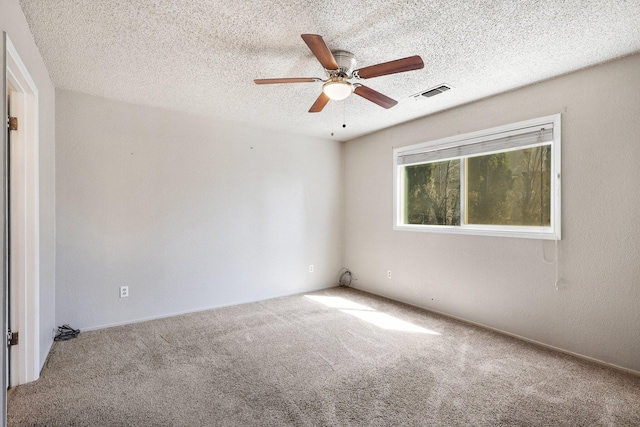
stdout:
[[(12, 325), (14, 330), (19, 332), (19, 344), (15, 353), (16, 363), (11, 363), (11, 384), (6, 386), (14, 387), (37, 380), (40, 376), (40, 226), (39, 226), (39, 138), (38, 138), (38, 89), (31, 78), (27, 67), (22, 62), (18, 51), (4, 34), (5, 41), (5, 78), (3, 79), (4, 111), (8, 110), (7, 95), (9, 88), (12, 97), (17, 97), (15, 106), (19, 108), (17, 112), (12, 111), (18, 117), (18, 131), (11, 134), (12, 145), (20, 147), (17, 150), (18, 164), (13, 164), (11, 169), (19, 176), (14, 176), (12, 180), (17, 180), (18, 186), (13, 187), (18, 191), (18, 206), (11, 206), (10, 216), (12, 218), (12, 247), (7, 246), (7, 235), (4, 236), (5, 266), (5, 301), (6, 287), (11, 286), (12, 293), (16, 298), (12, 298), (14, 303), (11, 311), (17, 312), (17, 316), (12, 316), (17, 320), (17, 325)], [(8, 87), (7, 87), (8, 86)], [(4, 133), (4, 155), (7, 150), (7, 133)], [(3, 176), (6, 185), (6, 162), (3, 162)], [(16, 160), (16, 159), (14, 159)], [(7, 203), (7, 189), (4, 189), (3, 199), (5, 201), (5, 212)], [(7, 218), (4, 218), (5, 233), (8, 231)], [(17, 240), (17, 241), (16, 241)], [(8, 256), (10, 254), (10, 257)], [(18, 279), (13, 283), (8, 283), (7, 267), (10, 262), (13, 273), (12, 278)], [(11, 301), (7, 301), (11, 303)], [(6, 304), (3, 311), (6, 310)], [(3, 318), (6, 322), (6, 313)], [(6, 325), (5, 325), (6, 330)], [(6, 354), (3, 357), (6, 364)], [(5, 370), (6, 372), (6, 370)]]

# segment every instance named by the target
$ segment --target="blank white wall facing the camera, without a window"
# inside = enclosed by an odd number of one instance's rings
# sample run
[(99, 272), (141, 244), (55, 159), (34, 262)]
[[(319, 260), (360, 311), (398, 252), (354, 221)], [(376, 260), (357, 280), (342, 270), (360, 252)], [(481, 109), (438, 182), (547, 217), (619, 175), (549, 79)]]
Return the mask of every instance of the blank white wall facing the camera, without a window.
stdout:
[(341, 143), (64, 90), (56, 114), (58, 323), (96, 328), (336, 282)]

